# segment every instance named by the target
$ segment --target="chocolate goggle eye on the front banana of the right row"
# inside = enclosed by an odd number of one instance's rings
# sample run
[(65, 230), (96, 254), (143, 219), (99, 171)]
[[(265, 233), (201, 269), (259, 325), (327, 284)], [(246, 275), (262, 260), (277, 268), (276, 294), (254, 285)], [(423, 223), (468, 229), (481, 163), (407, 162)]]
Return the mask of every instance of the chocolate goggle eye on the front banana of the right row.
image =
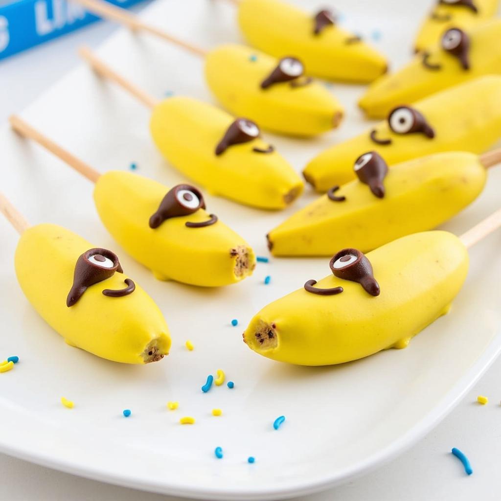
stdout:
[(381, 290), (373, 275), (372, 265), (360, 250), (340, 250), (330, 261), (329, 267), (335, 277), (359, 283), (371, 296), (379, 296)]

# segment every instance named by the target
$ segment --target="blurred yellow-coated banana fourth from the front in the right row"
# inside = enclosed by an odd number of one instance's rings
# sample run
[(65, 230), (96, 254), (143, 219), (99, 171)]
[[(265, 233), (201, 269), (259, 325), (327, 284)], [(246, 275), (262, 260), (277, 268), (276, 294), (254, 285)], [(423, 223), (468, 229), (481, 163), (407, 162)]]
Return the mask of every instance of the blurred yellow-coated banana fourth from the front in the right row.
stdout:
[(468, 32), (469, 69), (441, 44), (417, 55), (396, 73), (374, 82), (359, 102), (370, 118), (383, 118), (392, 108), (410, 104), (434, 92), (483, 75), (501, 75), (501, 20), (494, 19)]

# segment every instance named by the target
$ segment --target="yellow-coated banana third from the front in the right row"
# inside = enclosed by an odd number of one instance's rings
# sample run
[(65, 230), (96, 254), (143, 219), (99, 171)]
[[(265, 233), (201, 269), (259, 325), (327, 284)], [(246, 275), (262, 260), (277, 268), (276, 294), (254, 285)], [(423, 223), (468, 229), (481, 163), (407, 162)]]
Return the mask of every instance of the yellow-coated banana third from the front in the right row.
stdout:
[[(377, 151), (395, 163), (441, 151), (481, 153), (501, 137), (501, 76), (486, 76), (437, 92), (412, 105), (435, 132), (429, 138), (420, 132), (397, 134), (381, 122), (348, 141), (332, 146), (315, 157), (303, 174), (324, 192), (355, 177), (353, 164), (366, 151)], [(391, 139), (391, 144), (375, 144)]]

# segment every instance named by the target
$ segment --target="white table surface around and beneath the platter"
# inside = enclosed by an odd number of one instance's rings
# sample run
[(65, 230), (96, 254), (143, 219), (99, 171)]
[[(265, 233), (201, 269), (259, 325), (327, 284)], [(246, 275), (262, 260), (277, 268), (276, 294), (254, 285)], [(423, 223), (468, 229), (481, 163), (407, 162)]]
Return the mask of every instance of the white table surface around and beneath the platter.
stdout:
[[(423, 4), (429, 2), (423, 2)], [(140, 10), (140, 8), (136, 8)], [(423, 11), (425, 8), (423, 7)], [(18, 112), (78, 64), (82, 43), (98, 46), (116, 26), (98, 23), (78, 33), (0, 62), (0, 122)], [(5, 166), (4, 166), (5, 168)], [(1, 307), (0, 307), (1, 310)], [(303, 501), (413, 501), (499, 499), (501, 445), (501, 359), (495, 362), (464, 400), (431, 433), (393, 462), (377, 471)], [(476, 403), (477, 395), (489, 403)], [(6, 432), (7, 430), (0, 430)], [(458, 447), (469, 457), (474, 473), (465, 475), (450, 454)], [(121, 499), (176, 501), (51, 470), (0, 454), (2, 497), (15, 501)]]

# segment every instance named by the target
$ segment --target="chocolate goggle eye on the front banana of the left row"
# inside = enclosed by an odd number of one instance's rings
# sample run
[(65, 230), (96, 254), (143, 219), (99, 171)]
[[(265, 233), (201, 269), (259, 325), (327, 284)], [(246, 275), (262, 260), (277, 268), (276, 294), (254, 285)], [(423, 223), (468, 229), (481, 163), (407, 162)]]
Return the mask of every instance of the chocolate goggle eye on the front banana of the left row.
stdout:
[(111, 250), (98, 247), (86, 250), (75, 265), (73, 285), (66, 298), (66, 306), (73, 306), (87, 288), (112, 277), (115, 272), (123, 273), (123, 270), (117, 255)]

